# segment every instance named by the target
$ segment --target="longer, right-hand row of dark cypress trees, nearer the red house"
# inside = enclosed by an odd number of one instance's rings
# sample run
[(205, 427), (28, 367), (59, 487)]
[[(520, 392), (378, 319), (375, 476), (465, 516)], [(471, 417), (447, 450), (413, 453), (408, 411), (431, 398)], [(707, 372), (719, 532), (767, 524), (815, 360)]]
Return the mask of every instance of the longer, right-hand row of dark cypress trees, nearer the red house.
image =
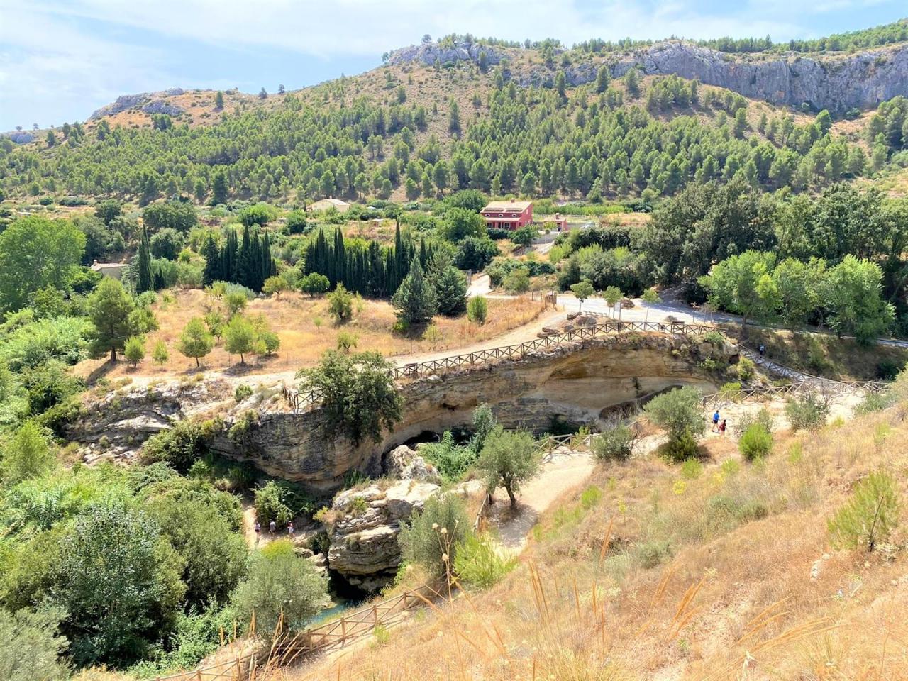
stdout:
[(365, 249), (350, 249), (340, 228), (334, 230), (330, 241), (324, 230), (320, 230), (306, 247), (303, 274), (324, 274), (332, 289), (343, 283), (348, 291), (367, 298), (389, 298), (410, 274), (414, 256), (425, 267), (433, 252), (433, 247), (425, 241), (420, 241), (417, 248), (411, 239), (402, 238), (400, 227), (394, 233), (393, 247), (382, 247), (379, 242), (371, 241)]

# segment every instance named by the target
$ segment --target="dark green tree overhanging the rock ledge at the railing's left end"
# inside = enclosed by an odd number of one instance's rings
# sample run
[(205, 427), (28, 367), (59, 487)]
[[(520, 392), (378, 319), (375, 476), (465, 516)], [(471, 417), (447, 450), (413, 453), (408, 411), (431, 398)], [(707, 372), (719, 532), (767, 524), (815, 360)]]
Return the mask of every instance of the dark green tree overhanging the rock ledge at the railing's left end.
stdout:
[(382, 429), (400, 420), (402, 398), (392, 366), (378, 352), (328, 350), (317, 367), (300, 370), (301, 390), (321, 395), (329, 436), (345, 433), (354, 443), (379, 442)]

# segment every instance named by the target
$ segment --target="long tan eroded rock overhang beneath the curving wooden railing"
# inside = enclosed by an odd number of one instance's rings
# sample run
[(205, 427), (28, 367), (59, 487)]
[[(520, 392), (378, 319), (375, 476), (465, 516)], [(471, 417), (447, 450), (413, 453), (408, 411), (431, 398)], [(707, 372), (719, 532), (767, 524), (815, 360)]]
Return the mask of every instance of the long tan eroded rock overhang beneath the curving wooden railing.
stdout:
[[(530, 352), (522, 360), (432, 376), (401, 387), (403, 418), (381, 442), (358, 446), (325, 437), (321, 410), (293, 414), (260, 408), (242, 439), (226, 432), (212, 449), (231, 459), (252, 461), (271, 475), (301, 481), (314, 491), (341, 487), (350, 470), (379, 477), (382, 453), (430, 431), (469, 423), (472, 410), (489, 404), (505, 428), (545, 430), (553, 417), (586, 423), (675, 386), (715, 391), (715, 378), (700, 369), (700, 344), (652, 334), (627, 334)], [(715, 350), (714, 350), (715, 351)], [(723, 350), (734, 355), (731, 346)], [(229, 429), (240, 410), (223, 416)]]

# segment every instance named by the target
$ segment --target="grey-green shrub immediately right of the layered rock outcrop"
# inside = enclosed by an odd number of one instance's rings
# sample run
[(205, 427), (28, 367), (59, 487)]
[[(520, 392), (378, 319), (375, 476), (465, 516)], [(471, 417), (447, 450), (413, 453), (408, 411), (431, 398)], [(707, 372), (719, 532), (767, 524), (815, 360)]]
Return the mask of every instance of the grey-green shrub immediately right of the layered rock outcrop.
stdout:
[(413, 514), (398, 543), (408, 563), (440, 575), (457, 561), (458, 548), (471, 531), (463, 501), (454, 494), (436, 495), (426, 499), (421, 513)]

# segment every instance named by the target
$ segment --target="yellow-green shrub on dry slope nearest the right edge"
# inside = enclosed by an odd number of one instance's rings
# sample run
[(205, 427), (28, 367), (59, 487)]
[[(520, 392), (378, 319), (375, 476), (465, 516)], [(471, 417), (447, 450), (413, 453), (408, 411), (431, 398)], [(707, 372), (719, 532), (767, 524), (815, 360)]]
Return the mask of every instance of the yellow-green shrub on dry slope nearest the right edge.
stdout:
[(899, 492), (893, 477), (876, 470), (854, 486), (848, 502), (828, 522), (835, 548), (873, 551), (898, 525)]

